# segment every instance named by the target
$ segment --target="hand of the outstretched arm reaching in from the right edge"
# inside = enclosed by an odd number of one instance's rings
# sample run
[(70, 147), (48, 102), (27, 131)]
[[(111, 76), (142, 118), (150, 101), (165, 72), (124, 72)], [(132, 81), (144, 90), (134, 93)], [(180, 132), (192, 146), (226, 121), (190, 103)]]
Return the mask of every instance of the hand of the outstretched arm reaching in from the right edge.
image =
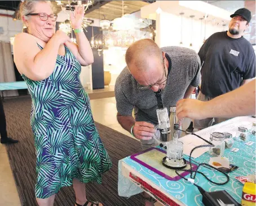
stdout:
[(176, 115), (179, 120), (184, 117), (192, 118), (193, 120), (207, 118), (205, 103), (196, 99), (181, 99), (176, 104)]

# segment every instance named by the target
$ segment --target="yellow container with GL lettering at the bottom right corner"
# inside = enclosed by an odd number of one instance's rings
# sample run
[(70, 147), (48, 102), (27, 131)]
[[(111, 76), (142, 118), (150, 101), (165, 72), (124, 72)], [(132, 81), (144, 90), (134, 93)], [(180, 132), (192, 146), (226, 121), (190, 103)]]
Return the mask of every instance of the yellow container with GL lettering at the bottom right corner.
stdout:
[(252, 182), (245, 182), (244, 188), (242, 189), (242, 206), (255, 206), (255, 187), (256, 185)]

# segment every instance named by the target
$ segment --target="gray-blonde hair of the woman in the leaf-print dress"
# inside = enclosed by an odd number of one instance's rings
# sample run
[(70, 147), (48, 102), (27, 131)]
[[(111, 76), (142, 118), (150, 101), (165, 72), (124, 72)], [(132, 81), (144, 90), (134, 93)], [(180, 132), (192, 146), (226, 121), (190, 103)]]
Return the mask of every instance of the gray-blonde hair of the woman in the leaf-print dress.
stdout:
[[(32, 13), (34, 10), (34, 7), (39, 2), (50, 3), (52, 10), (55, 11), (55, 7), (51, 3), (51, 1), (23, 1), (20, 3), (19, 12), (17, 13), (17, 19), (23, 21), (23, 16), (25, 19), (28, 19), (29, 17), (26, 15), (28, 15), (29, 13)], [(23, 24), (25, 25), (24, 21), (23, 21)], [(28, 33), (28, 28), (23, 28), (23, 32)]]

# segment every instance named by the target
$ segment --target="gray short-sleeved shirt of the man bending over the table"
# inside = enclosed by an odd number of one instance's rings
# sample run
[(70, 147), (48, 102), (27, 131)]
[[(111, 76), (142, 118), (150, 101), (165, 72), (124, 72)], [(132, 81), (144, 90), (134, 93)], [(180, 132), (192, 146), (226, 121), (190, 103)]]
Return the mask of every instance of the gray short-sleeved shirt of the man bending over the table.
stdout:
[[(189, 85), (197, 87), (200, 84), (200, 58), (195, 51), (183, 47), (163, 47), (161, 51), (171, 58), (171, 71), (162, 93), (164, 107), (169, 110), (183, 99)], [(155, 93), (151, 89), (137, 89), (136, 80), (127, 67), (117, 77), (114, 91), (120, 115), (131, 116), (134, 109), (136, 121), (157, 124)]]

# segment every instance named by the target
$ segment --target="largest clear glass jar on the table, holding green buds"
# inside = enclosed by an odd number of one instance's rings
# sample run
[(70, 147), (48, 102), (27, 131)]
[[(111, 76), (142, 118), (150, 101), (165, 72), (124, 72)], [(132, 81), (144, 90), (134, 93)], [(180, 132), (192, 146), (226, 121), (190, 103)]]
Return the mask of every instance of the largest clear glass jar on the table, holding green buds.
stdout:
[(210, 147), (209, 153), (214, 157), (221, 157), (225, 150), (224, 134), (220, 132), (213, 132), (210, 136), (210, 143), (214, 144), (214, 147)]

